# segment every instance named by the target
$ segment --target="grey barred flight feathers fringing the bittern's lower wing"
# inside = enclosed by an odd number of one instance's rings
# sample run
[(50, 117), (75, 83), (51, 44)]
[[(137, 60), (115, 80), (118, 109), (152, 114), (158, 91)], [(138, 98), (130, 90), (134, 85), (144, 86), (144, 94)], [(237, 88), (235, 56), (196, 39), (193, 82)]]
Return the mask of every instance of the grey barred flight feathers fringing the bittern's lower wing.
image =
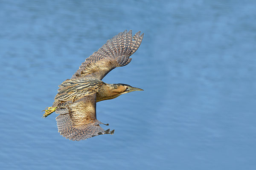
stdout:
[[(56, 117), (58, 132), (65, 137), (73, 141), (80, 141), (91, 138), (93, 136), (103, 134), (113, 134), (114, 130), (110, 131), (102, 129), (99, 124), (103, 124), (99, 120), (95, 119), (91, 122), (75, 127), (68, 113), (60, 114)], [(108, 125), (108, 124), (106, 124)]]

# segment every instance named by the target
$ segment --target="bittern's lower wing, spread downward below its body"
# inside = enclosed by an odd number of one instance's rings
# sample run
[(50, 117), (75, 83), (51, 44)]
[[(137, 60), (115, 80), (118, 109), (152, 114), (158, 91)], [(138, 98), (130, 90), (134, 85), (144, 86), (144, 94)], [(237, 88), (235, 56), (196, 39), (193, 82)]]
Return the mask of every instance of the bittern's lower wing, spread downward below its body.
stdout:
[(60, 103), (55, 112), (60, 114), (56, 117), (58, 132), (67, 139), (79, 141), (114, 133), (99, 126), (103, 123), (96, 119), (96, 93), (73, 103)]

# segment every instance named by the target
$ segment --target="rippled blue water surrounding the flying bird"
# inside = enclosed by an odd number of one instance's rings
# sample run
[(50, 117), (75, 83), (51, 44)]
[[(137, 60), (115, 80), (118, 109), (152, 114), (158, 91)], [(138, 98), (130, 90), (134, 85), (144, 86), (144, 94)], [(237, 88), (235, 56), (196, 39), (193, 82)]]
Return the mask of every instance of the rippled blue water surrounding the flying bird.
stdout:
[[(97, 103), (115, 129), (73, 142), (58, 85), (108, 39), (145, 33), (103, 81), (145, 91)], [(256, 1), (1, 0), (0, 169), (255, 170)]]

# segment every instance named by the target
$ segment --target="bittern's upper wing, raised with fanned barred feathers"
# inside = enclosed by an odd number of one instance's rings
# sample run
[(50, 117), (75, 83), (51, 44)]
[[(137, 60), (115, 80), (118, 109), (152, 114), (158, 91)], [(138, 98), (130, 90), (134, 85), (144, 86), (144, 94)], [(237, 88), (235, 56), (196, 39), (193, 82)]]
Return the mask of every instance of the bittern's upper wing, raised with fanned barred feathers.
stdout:
[(80, 77), (103, 79), (114, 68), (128, 65), (131, 62), (129, 57), (139, 48), (143, 35), (140, 35), (140, 31), (134, 37), (131, 30), (120, 32), (85, 59), (71, 79)]

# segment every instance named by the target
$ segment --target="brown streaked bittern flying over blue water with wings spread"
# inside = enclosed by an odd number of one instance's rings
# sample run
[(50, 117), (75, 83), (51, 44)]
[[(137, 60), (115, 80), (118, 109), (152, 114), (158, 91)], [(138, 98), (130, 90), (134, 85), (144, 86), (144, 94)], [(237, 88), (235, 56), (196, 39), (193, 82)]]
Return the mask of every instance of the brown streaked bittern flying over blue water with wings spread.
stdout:
[(43, 117), (53, 112), (59, 114), (56, 121), (62, 136), (79, 141), (114, 133), (99, 126), (104, 123), (96, 119), (96, 102), (143, 90), (126, 84), (107, 84), (102, 79), (114, 68), (131, 62), (129, 57), (139, 48), (143, 35), (140, 31), (133, 37), (131, 30), (120, 32), (85, 59), (71, 79), (59, 85), (55, 101), (44, 110)]

